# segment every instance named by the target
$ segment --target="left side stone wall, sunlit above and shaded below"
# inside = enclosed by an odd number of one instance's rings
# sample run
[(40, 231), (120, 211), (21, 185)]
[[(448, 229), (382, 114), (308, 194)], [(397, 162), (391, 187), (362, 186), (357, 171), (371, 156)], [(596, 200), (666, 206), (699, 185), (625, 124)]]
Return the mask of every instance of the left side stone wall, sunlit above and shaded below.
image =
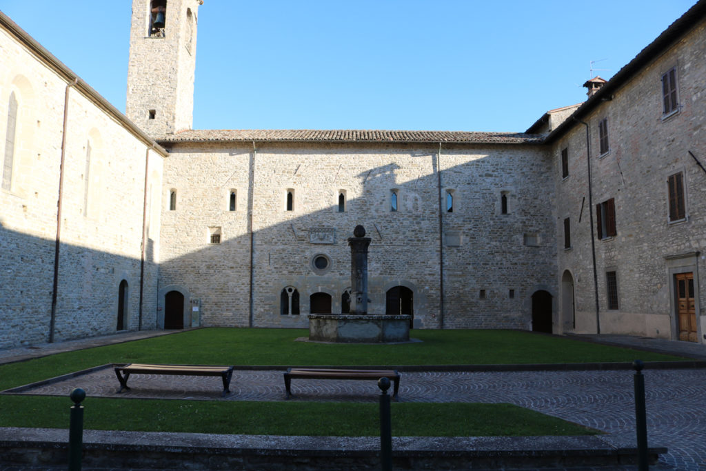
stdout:
[[(0, 155), (8, 103), (18, 102), (11, 186), (0, 190), (0, 347), (49, 340), (66, 69), (37, 44), (0, 28)], [(112, 333), (128, 282), (124, 328), (138, 328), (145, 157), (148, 146), (107, 103), (68, 91), (54, 340)], [(155, 198), (148, 218), (143, 326), (155, 326), (162, 155), (150, 151)]]

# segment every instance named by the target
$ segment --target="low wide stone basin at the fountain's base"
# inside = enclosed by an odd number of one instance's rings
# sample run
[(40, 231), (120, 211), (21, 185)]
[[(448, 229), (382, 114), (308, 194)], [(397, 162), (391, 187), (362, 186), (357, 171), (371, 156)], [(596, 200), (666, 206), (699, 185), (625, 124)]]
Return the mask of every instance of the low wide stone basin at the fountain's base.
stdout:
[(409, 342), (412, 316), (309, 314), (309, 340), (315, 342)]

